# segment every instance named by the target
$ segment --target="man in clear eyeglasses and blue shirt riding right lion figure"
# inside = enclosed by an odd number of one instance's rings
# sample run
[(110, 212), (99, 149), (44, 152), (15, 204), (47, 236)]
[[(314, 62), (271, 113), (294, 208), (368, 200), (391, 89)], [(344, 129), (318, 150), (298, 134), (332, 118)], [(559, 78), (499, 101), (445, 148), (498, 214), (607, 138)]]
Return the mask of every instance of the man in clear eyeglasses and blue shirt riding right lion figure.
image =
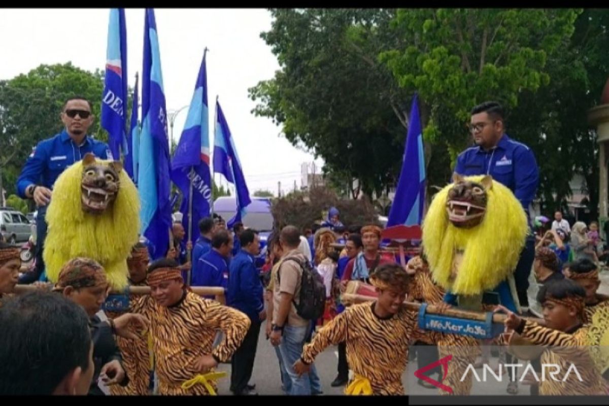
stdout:
[[(530, 223), (529, 205), (535, 198), (539, 184), (539, 168), (533, 151), (505, 134), (504, 111), (497, 102), (484, 102), (474, 107), (469, 128), (476, 145), (460, 153), (454, 173), (491, 175), (514, 193)], [(534, 260), (535, 236), (530, 233), (514, 273), (523, 311), (529, 306), (527, 289)]]

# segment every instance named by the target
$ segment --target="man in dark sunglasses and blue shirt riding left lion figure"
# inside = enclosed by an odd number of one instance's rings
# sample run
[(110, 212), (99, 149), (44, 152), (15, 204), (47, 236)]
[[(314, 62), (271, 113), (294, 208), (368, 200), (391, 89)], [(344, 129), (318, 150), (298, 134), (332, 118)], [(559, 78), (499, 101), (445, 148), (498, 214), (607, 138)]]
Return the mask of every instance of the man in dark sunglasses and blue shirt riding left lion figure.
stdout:
[(83, 97), (71, 97), (63, 105), (60, 116), (66, 126), (64, 130), (38, 142), (17, 180), (19, 197), (33, 199), (38, 206), (36, 268), (22, 276), (19, 283), (37, 281), (44, 270), (42, 251), (47, 227), (44, 218), (51, 201), (55, 180), (66, 167), (80, 161), (88, 152), (100, 159), (112, 159), (110, 149), (105, 142), (86, 135), (94, 119), (89, 100)]

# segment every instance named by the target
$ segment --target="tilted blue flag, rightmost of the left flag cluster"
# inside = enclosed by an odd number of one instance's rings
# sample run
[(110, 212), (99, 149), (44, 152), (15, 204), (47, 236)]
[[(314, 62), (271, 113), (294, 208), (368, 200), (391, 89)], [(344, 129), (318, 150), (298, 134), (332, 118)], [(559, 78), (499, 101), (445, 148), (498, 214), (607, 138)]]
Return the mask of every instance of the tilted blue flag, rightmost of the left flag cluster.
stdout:
[(252, 203), (250, 192), (247, 190), (243, 170), (237, 150), (234, 147), (228, 124), (222, 113), (220, 103), (216, 101), (216, 135), (214, 137), (214, 172), (222, 173), (230, 183), (234, 184), (237, 212), (227, 222), (230, 228), (236, 222), (241, 222), (245, 208)]

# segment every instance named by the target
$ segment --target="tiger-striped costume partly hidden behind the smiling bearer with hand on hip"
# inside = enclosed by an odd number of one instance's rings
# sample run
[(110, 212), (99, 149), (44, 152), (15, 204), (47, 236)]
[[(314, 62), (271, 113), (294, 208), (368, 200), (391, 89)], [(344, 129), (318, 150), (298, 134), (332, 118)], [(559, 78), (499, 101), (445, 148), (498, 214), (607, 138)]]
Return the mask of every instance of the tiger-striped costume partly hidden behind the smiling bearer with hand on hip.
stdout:
[[(145, 281), (137, 284), (129, 281), (129, 285), (147, 286)], [(132, 293), (129, 295), (129, 303), (132, 304), (141, 297), (142, 295)], [(108, 318), (112, 319), (124, 314), (119, 312), (105, 313)], [(125, 387), (112, 385), (110, 393), (113, 395), (147, 395), (150, 381), (150, 354), (146, 337), (142, 337), (139, 340), (130, 340), (116, 335), (114, 338), (116, 339), (116, 345), (121, 350), (122, 366), (129, 377), (129, 383)]]

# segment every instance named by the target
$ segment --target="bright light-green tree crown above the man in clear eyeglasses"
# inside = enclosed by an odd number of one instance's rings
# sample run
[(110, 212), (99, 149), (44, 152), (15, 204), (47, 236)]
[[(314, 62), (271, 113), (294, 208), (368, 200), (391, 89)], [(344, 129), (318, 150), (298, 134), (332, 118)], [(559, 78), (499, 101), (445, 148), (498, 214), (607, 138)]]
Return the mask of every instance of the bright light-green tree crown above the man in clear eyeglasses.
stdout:
[(404, 9), (391, 26), (400, 49), (379, 60), (400, 86), (417, 91), (429, 110), (424, 138), (448, 149), (451, 161), (470, 142), (471, 107), (498, 100), (518, 105), (523, 91), (550, 82), (547, 60), (568, 44), (581, 10)]

